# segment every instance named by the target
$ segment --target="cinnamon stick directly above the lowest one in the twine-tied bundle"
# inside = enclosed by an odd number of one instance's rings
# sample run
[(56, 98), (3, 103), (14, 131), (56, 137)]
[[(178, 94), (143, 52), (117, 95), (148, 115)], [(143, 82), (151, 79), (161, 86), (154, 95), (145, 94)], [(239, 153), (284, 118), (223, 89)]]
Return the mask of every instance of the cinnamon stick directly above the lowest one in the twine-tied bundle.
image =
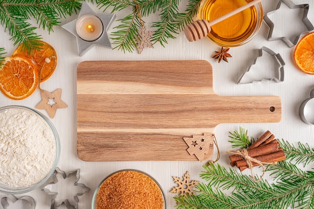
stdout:
[[(262, 156), (262, 155), (274, 153), (274, 152), (277, 152), (278, 150), (279, 150), (279, 143), (270, 143), (270, 144), (266, 144), (264, 146), (259, 146), (259, 147), (254, 148), (254, 149), (247, 150), (247, 154), (250, 157), (257, 157), (257, 156)], [(235, 162), (238, 160), (242, 160), (242, 156), (237, 155), (237, 154), (233, 154), (233, 155), (229, 156), (229, 159), (231, 160), (231, 162)], [(231, 162), (230, 162), (230, 164), (231, 164)], [(234, 163), (232, 163), (232, 164), (234, 164)]]

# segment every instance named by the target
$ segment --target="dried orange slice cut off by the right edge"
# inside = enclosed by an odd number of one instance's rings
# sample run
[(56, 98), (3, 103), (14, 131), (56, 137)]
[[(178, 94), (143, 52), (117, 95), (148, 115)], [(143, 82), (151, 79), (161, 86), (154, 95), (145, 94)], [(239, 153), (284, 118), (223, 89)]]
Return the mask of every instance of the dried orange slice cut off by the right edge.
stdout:
[(294, 62), (307, 74), (314, 74), (314, 33), (304, 36), (294, 50)]

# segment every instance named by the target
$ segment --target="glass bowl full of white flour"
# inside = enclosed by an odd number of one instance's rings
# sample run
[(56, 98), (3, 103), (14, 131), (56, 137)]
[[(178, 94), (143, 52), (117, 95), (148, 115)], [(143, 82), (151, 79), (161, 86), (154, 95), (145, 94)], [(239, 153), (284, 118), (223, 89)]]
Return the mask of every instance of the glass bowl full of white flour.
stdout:
[(53, 174), (58, 133), (42, 113), (24, 106), (0, 108), (0, 192), (25, 193)]

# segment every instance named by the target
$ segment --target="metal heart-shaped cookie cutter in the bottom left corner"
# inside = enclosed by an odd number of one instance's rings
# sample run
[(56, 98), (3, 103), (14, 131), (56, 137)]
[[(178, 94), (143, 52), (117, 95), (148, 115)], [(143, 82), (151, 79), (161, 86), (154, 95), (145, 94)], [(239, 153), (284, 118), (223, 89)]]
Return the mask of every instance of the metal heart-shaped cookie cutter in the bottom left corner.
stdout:
[(18, 198), (13, 194), (8, 194), (1, 198), (1, 205), (4, 209), (7, 209), (11, 204), (16, 203), (17, 201), (23, 201), (24, 203), (21, 208), (15, 207), (16, 209), (35, 209), (36, 202), (31, 196), (22, 196)]

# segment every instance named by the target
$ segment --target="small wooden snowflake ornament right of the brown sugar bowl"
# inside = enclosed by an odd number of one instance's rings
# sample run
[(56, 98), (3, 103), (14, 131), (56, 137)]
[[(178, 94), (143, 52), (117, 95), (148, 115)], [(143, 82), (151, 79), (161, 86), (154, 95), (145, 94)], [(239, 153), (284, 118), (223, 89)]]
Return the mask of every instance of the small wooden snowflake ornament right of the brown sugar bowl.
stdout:
[(187, 193), (189, 195), (195, 194), (195, 191), (192, 189), (192, 187), (195, 187), (200, 181), (191, 180), (190, 181), (190, 174), (189, 171), (184, 174), (182, 180), (180, 177), (172, 176), (174, 178), (175, 183), (178, 184), (178, 186), (173, 187), (173, 189), (170, 192), (173, 193), (181, 193), (182, 195), (186, 195)]

